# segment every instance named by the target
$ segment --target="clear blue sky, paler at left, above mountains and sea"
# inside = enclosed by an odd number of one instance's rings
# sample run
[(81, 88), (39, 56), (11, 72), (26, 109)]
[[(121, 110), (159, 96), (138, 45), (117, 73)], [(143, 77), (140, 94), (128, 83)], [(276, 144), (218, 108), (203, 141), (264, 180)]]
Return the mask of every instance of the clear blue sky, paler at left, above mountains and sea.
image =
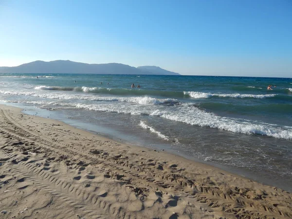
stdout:
[(57, 59), (292, 77), (292, 0), (0, 0), (0, 66)]

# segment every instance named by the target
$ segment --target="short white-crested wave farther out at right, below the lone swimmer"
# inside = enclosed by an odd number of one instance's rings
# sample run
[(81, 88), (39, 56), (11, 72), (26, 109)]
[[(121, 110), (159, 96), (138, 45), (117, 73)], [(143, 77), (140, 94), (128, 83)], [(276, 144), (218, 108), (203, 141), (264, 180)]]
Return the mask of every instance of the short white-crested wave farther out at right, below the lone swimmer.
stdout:
[(184, 95), (188, 95), (192, 98), (210, 98), (210, 97), (232, 97), (232, 98), (267, 98), (274, 97), (277, 94), (239, 94), (239, 93), (204, 93), (196, 91), (183, 91)]

